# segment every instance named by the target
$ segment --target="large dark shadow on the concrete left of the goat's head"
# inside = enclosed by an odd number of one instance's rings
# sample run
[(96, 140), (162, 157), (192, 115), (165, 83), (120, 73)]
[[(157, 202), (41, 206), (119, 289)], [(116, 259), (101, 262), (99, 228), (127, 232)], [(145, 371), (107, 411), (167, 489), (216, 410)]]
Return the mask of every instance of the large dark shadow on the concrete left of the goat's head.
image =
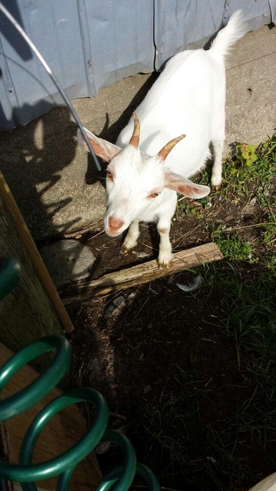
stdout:
[[(52, 105), (45, 103), (45, 109), (49, 111)], [(33, 106), (25, 104), (21, 110), (33, 111)], [(42, 200), (43, 194), (60, 180), (60, 171), (74, 160), (77, 143), (75, 125), (70, 117), (70, 111), (62, 106), (58, 108), (58, 118), (53, 118), (52, 111), (23, 129), (1, 133), (2, 154), (5, 153), (1, 169), (19, 209), (32, 224), (34, 235), (36, 224), (41, 228), (41, 222), (43, 229), (54, 235), (65, 233), (77, 221), (75, 218), (59, 227), (53, 224), (54, 215), (72, 199), (64, 196), (61, 190), (55, 202), (45, 205)]]

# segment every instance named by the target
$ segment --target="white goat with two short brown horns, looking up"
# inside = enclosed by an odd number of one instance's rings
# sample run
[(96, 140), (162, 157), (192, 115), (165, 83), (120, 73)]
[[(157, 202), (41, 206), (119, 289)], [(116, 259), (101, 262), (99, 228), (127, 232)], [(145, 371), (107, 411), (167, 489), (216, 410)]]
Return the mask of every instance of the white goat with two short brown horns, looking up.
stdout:
[[(214, 149), (211, 183), (221, 184), (224, 57), (245, 32), (241, 12), (237, 11), (218, 33), (210, 50), (183, 51), (171, 58), (137, 107), (134, 129), (131, 119), (120, 133), (117, 145), (86, 130), (95, 153), (109, 163), (105, 231), (117, 236), (130, 226), (123, 244), (125, 252), (137, 244), (139, 222), (156, 220), (160, 235), (158, 263), (170, 267), (169, 231), (177, 192), (194, 199), (210, 193), (208, 186), (187, 178), (204, 167), (210, 157), (210, 142)], [(181, 135), (184, 132), (187, 138)], [(79, 130), (78, 141), (86, 146)]]

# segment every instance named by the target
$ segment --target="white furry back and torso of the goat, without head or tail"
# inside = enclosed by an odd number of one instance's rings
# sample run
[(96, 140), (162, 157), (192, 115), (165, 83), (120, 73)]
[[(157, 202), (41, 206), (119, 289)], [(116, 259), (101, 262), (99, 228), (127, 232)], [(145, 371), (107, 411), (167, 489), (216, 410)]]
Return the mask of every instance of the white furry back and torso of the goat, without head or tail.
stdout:
[[(224, 87), (224, 67), (209, 51), (183, 51), (175, 55), (136, 109), (141, 125), (140, 149), (154, 155), (169, 140), (186, 133), (187, 137), (169, 154), (166, 166), (191, 175), (190, 168), (202, 161), (208, 149), (218, 97), (224, 105)], [(130, 120), (118, 138), (118, 145), (128, 144), (132, 130)]]

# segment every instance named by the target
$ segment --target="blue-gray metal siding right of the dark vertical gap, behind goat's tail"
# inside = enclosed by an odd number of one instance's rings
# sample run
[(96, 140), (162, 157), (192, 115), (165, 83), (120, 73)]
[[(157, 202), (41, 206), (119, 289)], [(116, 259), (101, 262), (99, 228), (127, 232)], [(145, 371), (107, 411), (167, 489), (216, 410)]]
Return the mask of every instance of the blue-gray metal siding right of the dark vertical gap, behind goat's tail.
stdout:
[(250, 21), (250, 30), (271, 22), (276, 0), (155, 0), (154, 37), (155, 69), (177, 52), (202, 48), (205, 42), (236, 10), (241, 9)]

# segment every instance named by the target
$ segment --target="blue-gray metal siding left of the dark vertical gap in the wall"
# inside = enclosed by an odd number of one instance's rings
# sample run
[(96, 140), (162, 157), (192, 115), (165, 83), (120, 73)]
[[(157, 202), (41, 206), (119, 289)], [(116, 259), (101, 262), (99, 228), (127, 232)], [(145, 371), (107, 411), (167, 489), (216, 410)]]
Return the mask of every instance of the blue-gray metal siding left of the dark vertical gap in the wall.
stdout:
[[(152, 72), (152, 0), (6, 0), (70, 99)], [(26, 124), (63, 102), (25, 41), (0, 15), (0, 129)], [(3, 27), (5, 26), (5, 29)], [(4, 31), (4, 34), (3, 34)], [(7, 36), (8, 34), (8, 36)]]

